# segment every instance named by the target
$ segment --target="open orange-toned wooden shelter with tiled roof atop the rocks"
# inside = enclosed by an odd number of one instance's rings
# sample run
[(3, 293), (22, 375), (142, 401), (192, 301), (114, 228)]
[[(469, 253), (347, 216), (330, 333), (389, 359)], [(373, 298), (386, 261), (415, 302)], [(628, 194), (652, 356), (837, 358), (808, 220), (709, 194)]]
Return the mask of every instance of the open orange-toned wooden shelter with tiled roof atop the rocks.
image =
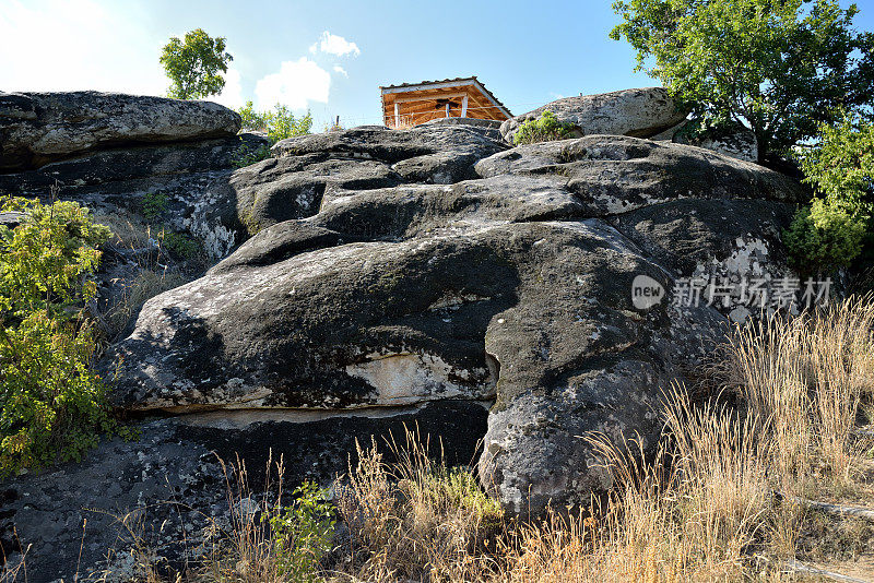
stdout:
[(379, 87), (389, 128), (410, 128), (438, 118), (504, 121), (512, 117), (475, 76)]

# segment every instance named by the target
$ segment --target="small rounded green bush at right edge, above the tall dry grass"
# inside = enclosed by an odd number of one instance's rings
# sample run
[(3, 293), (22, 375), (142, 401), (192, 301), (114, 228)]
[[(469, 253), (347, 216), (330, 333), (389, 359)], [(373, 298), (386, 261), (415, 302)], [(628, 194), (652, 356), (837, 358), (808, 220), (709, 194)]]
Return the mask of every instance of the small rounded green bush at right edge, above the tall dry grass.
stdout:
[(866, 216), (830, 200), (814, 199), (795, 213), (783, 241), (790, 263), (802, 274), (846, 267), (862, 250)]

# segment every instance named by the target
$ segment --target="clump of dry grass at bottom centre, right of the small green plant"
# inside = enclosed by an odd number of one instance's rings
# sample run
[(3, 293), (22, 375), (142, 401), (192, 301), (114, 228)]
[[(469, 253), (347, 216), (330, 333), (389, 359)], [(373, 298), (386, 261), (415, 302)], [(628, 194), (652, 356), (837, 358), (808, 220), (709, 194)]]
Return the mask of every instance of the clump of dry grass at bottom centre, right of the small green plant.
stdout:
[(388, 443), (358, 445), (358, 463), (336, 485), (336, 504), (350, 531), (347, 557), (335, 576), (352, 581), (483, 581), (494, 569), (489, 543), (503, 511), (466, 468), (447, 468), (427, 440), (405, 431)]

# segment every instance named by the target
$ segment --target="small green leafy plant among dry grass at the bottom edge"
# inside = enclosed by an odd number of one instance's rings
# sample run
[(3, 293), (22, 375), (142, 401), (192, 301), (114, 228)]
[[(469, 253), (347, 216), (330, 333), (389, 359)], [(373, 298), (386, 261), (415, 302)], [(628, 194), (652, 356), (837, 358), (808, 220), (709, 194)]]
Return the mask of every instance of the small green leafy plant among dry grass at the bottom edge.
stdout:
[(331, 550), (336, 517), (328, 492), (305, 481), (294, 502), (270, 516), (281, 574), (288, 581), (316, 581), (319, 561)]

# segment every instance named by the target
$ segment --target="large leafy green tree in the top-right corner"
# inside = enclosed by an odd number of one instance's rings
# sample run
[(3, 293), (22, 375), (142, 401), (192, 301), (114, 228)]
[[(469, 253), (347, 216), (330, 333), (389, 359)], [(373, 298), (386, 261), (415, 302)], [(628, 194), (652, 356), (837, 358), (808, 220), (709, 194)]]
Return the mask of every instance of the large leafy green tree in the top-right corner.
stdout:
[[(804, 4), (811, 4), (805, 7)], [(829, 0), (628, 0), (612, 32), (709, 126), (739, 122), (759, 160), (786, 154), (874, 97), (874, 35)], [(651, 64), (651, 67), (647, 67)]]

